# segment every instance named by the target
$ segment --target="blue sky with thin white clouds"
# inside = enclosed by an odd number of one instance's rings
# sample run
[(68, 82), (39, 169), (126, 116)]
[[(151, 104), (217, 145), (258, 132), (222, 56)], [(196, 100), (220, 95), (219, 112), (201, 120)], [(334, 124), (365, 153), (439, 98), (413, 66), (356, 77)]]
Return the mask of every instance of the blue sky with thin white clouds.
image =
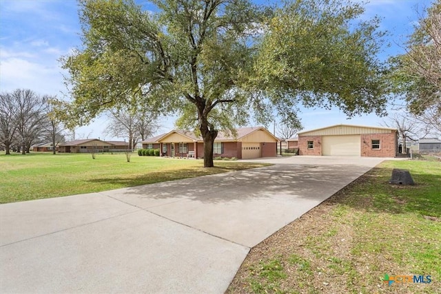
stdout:
[[(371, 0), (366, 5), (364, 17), (378, 15), (382, 18), (380, 29), (389, 31), (391, 47), (381, 59), (404, 52), (403, 43), (418, 20), (417, 11), (421, 14), (432, 1)], [(26, 88), (62, 98), (67, 91), (59, 58), (81, 45), (80, 33), (75, 0), (0, 0), (1, 92)], [(374, 114), (348, 120), (338, 109), (301, 110), (305, 129), (340, 123), (381, 125), (384, 120)], [(174, 118), (164, 118), (163, 131), (172, 129), (173, 123)], [(77, 138), (104, 138), (105, 125), (105, 117), (97, 118), (91, 125), (76, 129)], [(272, 132), (272, 124), (269, 129)]]

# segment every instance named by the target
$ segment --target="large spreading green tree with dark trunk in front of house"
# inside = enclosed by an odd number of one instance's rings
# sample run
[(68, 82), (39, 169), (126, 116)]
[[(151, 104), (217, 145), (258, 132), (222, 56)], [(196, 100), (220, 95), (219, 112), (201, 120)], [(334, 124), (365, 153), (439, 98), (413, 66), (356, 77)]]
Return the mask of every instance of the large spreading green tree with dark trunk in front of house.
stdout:
[[(271, 110), (289, 123), (296, 104), (382, 113), (378, 20), (358, 22), (357, 3), (298, 0), (283, 8), (248, 0), (80, 0), (83, 48), (63, 58), (74, 123), (136, 98), (169, 113), (204, 141), (213, 166), (218, 130), (259, 122)], [(137, 94), (137, 95), (133, 95)]]

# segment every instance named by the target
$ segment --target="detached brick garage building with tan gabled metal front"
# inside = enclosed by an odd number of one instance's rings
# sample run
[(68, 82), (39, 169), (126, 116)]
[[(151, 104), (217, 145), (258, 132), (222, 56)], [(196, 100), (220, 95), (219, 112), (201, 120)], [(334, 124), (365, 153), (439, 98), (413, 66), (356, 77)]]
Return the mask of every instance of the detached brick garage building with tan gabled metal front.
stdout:
[(298, 132), (300, 155), (395, 157), (398, 130), (391, 127), (331, 125)]

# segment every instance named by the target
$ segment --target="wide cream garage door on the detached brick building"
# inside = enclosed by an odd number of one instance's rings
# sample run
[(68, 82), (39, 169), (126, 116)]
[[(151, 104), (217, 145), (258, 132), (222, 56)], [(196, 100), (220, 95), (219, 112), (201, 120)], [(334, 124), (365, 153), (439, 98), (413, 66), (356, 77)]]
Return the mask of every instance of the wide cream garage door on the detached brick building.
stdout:
[(323, 155), (360, 156), (360, 135), (323, 136)]

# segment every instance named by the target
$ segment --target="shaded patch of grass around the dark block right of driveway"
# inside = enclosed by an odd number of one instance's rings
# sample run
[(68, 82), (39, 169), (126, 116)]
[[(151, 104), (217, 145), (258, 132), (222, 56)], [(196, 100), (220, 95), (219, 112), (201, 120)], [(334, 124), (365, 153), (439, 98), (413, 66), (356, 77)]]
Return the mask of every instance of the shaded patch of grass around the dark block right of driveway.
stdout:
[(338, 191), (330, 202), (365, 211), (406, 213), (441, 221), (441, 178), (411, 171), (416, 185), (391, 185), (391, 168), (375, 167)]

